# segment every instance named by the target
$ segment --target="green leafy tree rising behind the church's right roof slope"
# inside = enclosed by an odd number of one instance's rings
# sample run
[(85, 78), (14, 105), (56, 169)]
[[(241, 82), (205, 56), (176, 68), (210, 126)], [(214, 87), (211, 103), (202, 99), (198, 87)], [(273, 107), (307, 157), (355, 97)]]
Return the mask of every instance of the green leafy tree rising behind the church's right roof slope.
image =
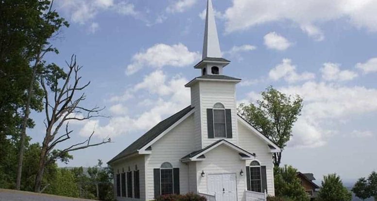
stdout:
[[(261, 93), (262, 99), (249, 105), (240, 104), (239, 114), (253, 124), (277, 146), (284, 148), (291, 139), (293, 124), (301, 114), (303, 99), (279, 92), (272, 86)], [(274, 153), (274, 165), (279, 166), (281, 153)]]

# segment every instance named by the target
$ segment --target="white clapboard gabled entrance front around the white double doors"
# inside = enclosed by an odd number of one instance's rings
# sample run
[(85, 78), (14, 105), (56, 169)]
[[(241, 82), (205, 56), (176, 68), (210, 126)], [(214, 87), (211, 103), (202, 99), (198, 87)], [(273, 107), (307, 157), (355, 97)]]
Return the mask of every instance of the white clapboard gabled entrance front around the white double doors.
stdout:
[[(205, 176), (201, 176), (202, 170)], [(198, 180), (198, 192), (207, 192), (208, 174), (234, 173), (237, 180), (237, 200), (245, 201), (246, 174), (240, 176), (240, 171), (245, 172), (245, 161), (240, 159), (237, 151), (220, 145), (206, 153), (206, 160), (196, 162), (196, 175)]]

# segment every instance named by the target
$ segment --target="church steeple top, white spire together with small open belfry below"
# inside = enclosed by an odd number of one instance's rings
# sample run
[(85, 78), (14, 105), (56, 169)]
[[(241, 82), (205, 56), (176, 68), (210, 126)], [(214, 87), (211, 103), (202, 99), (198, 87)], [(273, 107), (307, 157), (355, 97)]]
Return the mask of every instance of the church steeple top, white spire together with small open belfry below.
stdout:
[(202, 70), (202, 76), (223, 75), (223, 67), (230, 61), (221, 55), (212, 0), (207, 0), (206, 27), (204, 30), (202, 61), (194, 66)]

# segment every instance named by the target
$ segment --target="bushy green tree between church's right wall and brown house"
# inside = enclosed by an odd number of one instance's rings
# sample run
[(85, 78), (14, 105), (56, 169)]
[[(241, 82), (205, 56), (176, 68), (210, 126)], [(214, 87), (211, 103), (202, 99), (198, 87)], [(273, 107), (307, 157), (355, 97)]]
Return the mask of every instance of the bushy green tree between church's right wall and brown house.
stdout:
[[(297, 177), (297, 170), (292, 166), (274, 168), (275, 195), (295, 201), (309, 201), (310, 198)], [(287, 200), (283, 199), (283, 200)]]

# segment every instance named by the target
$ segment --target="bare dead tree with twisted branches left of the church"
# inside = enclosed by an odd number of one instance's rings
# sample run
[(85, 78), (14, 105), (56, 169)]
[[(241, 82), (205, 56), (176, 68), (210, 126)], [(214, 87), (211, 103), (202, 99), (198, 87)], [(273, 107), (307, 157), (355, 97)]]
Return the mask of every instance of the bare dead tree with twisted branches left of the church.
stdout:
[[(89, 138), (73, 143), (63, 150), (54, 150), (56, 145), (70, 139), (73, 130), (69, 129), (69, 122), (85, 121), (97, 117), (105, 117), (99, 113), (104, 109), (100, 107), (85, 108), (81, 106), (82, 101), (86, 99), (84, 89), (90, 84), (86, 83), (80, 86), (81, 77), (78, 75), (82, 66), (76, 62), (76, 56), (72, 55), (68, 65), (68, 72), (65, 73), (61, 68), (52, 64), (40, 77), (40, 84), (45, 93), (45, 115), (44, 121), (46, 134), (42, 143), (42, 150), (39, 157), (38, 173), (35, 178), (34, 191), (40, 192), (43, 171), (46, 165), (55, 162), (57, 159), (67, 157), (69, 152), (86, 149), (110, 142), (110, 138), (103, 139), (100, 142), (92, 143), (91, 139), (94, 131)], [(77, 95), (77, 93), (80, 93)], [(60, 128), (65, 125), (64, 133), (59, 135)]]

